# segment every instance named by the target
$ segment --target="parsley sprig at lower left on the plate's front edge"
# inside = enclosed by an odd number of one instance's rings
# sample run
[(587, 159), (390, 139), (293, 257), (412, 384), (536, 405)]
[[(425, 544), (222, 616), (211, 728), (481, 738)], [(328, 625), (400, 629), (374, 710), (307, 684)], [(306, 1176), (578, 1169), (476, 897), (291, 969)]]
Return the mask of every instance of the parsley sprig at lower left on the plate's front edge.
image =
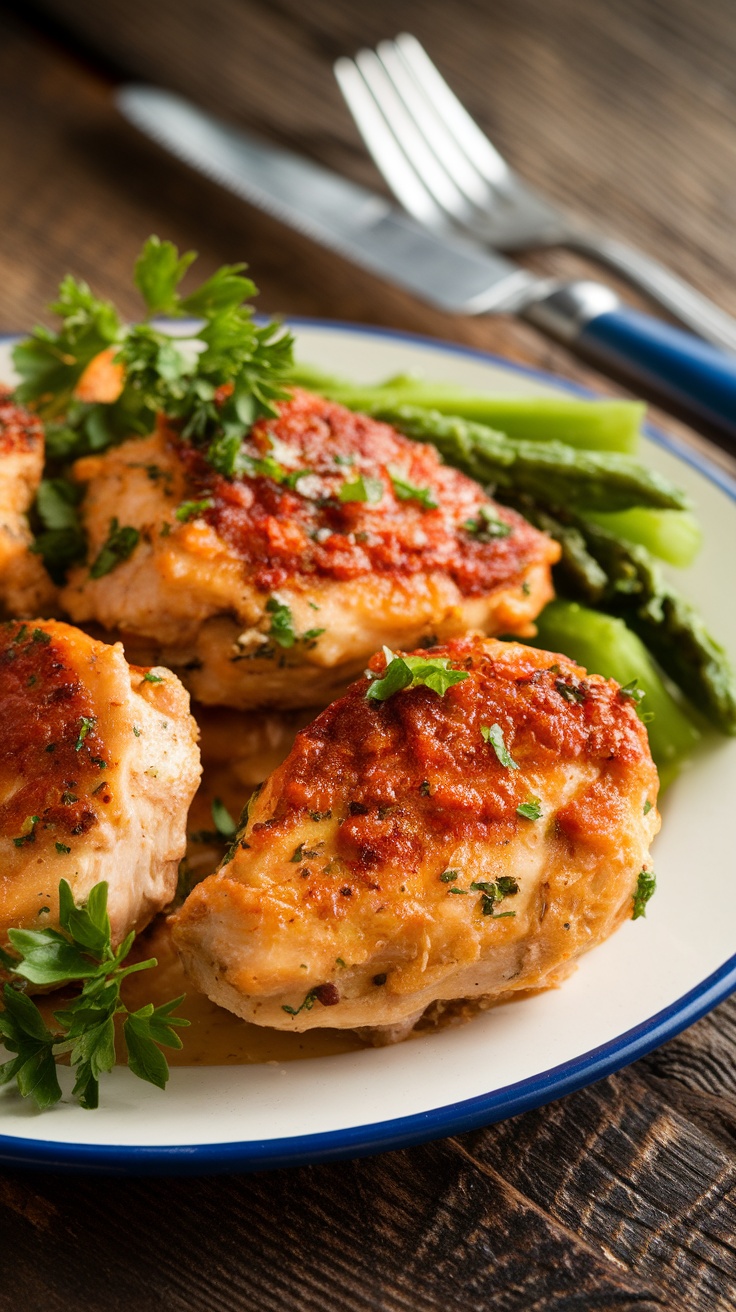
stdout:
[(45, 988), (83, 981), (80, 993), (54, 1012), (54, 1027), (43, 1021), (35, 1002), (13, 984), (3, 991), (0, 1034), (14, 1056), (0, 1065), (0, 1084), (16, 1081), (24, 1098), (33, 1098), (41, 1111), (62, 1097), (56, 1057), (70, 1054), (76, 1075), (73, 1097), (83, 1107), (96, 1107), (100, 1076), (115, 1061), (115, 1017), (122, 1026), (127, 1064), (140, 1080), (165, 1088), (168, 1064), (161, 1046), (180, 1048), (174, 1026), (189, 1025), (173, 1010), (177, 997), (161, 1006), (129, 1012), (121, 1000), (121, 984), (134, 971), (156, 966), (155, 958), (123, 967), (135, 938), (131, 932), (113, 951), (108, 916), (108, 884), (96, 884), (84, 907), (76, 907), (66, 879), (59, 883), (60, 929), (10, 929), (13, 954), (3, 954), (3, 966), (21, 980)]

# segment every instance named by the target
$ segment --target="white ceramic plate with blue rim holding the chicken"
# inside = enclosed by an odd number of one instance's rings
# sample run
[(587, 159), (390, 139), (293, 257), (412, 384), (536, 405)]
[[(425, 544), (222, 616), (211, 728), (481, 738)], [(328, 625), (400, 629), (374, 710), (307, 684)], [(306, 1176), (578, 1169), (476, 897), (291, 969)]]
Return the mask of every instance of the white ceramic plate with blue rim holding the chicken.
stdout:
[[(568, 387), (420, 337), (302, 320), (304, 362), (358, 382), (420, 373), (505, 395)], [(3, 354), (4, 352), (4, 354)], [(0, 345), (0, 377), (9, 377)], [(652, 433), (643, 457), (691, 495), (706, 543), (680, 575), (736, 652), (736, 484)], [(0, 1096), (0, 1161), (108, 1172), (257, 1169), (398, 1148), (516, 1115), (649, 1051), (736, 988), (736, 740), (707, 741), (669, 790), (657, 895), (555, 992), (390, 1048), (283, 1065), (177, 1068), (165, 1093), (117, 1068), (101, 1107), (39, 1115)]]

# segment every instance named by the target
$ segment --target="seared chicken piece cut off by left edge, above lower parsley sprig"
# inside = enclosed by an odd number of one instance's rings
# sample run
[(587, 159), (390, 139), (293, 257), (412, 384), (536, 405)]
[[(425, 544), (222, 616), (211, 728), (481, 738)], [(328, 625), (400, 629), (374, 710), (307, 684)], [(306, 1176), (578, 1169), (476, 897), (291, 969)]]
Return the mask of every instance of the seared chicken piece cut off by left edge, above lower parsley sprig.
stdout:
[[(171, 901), (199, 779), (189, 697), (55, 621), (0, 625), (0, 939), (109, 884), (113, 939)], [(47, 914), (42, 914), (47, 913)], [(41, 920), (39, 920), (41, 916)]]

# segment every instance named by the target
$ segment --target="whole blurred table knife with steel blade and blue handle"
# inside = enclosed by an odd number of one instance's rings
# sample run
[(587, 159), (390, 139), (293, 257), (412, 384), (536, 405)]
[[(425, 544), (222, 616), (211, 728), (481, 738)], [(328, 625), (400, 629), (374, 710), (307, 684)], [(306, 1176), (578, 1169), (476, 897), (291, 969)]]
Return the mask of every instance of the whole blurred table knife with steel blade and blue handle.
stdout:
[(117, 105), (186, 164), (438, 310), (518, 315), (736, 438), (736, 357), (628, 308), (603, 283), (541, 278), (464, 237), (429, 232), (384, 197), (171, 92), (126, 85)]

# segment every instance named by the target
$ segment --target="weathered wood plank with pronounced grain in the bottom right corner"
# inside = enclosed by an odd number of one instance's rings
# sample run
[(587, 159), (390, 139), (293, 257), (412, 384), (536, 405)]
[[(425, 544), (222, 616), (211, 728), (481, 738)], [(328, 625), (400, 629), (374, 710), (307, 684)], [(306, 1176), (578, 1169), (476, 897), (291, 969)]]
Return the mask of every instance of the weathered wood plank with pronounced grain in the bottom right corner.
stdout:
[(664, 1092), (632, 1068), (480, 1131), (470, 1151), (630, 1271), (674, 1299), (686, 1294), (689, 1308), (729, 1307), (735, 1155), (673, 1111)]

